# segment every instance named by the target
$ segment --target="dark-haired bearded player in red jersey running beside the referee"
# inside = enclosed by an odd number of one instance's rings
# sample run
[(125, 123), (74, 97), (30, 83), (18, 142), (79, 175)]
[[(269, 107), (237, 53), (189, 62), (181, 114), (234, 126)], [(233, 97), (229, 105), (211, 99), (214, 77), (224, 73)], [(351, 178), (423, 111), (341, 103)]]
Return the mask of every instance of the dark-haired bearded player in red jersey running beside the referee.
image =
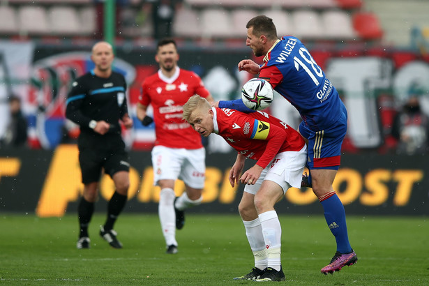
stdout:
[[(137, 117), (144, 126), (155, 121), (155, 146), (152, 149), (153, 184), (160, 186), (158, 213), (168, 254), (177, 253), (176, 229), (185, 223), (184, 211), (202, 202), (206, 153), (202, 138), (182, 120), (182, 107), (190, 96), (198, 94), (213, 102), (200, 77), (177, 66), (179, 54), (171, 38), (160, 40), (155, 56), (158, 73), (146, 77), (137, 104)], [(153, 119), (146, 114), (153, 107)], [(186, 191), (174, 194), (176, 179), (182, 179)]]

